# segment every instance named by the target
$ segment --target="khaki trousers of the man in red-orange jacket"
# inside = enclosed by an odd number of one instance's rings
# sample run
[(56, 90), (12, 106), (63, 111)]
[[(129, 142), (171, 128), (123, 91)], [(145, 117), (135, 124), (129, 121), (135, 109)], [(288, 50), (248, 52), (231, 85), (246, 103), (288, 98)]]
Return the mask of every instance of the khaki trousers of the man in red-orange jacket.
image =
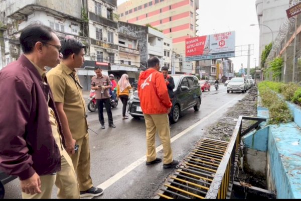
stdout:
[(143, 114), (146, 126), (146, 161), (150, 162), (156, 159), (156, 131), (163, 146), (163, 163), (168, 164), (173, 161), (173, 151), (171, 148), (171, 134), (168, 114)]

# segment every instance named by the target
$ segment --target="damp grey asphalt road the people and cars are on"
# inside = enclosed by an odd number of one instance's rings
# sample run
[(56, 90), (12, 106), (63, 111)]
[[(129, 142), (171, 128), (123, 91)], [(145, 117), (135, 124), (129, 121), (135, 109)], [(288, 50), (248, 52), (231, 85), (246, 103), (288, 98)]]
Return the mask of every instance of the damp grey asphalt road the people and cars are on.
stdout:
[[(84, 93), (87, 100), (88, 92)], [(182, 114), (178, 123), (171, 128), (174, 159), (182, 160), (202, 139), (206, 127), (214, 124), (235, 105), (244, 94), (227, 93), (226, 87), (219, 90), (211, 86), (210, 91), (202, 93), (200, 111), (189, 109)], [(144, 119), (131, 117), (122, 120), (122, 104), (112, 110), (116, 128), (109, 128), (104, 110), (105, 126), (100, 129), (97, 112), (88, 113), (91, 152), (91, 177), (94, 186), (104, 189), (101, 196), (95, 198), (153, 198), (175, 169), (164, 169), (163, 163), (145, 165), (145, 123)], [(157, 136), (157, 156), (163, 157), (159, 137)], [(5, 198), (21, 198), (19, 180), (5, 185)], [(56, 189), (53, 191), (56, 198)]]

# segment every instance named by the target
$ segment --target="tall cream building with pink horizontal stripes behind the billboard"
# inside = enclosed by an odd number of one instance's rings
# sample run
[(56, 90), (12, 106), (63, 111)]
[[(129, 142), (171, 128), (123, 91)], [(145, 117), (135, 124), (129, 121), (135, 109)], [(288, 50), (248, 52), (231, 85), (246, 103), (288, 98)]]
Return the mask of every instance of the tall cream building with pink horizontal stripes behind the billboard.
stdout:
[(117, 13), (120, 21), (162, 31), (172, 38), (173, 51), (185, 57), (185, 40), (196, 36), (198, 9), (198, 0), (130, 0), (119, 5)]

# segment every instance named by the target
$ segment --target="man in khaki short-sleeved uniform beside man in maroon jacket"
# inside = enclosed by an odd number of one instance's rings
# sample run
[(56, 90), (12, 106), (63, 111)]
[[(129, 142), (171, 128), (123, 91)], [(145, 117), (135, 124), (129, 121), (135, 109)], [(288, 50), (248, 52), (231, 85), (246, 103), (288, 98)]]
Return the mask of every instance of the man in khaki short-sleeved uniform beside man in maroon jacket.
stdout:
[[(66, 151), (70, 154), (77, 172), (80, 196), (98, 196), (103, 193), (103, 190), (94, 187), (90, 177), (90, 148), (85, 100), (75, 70), (83, 65), (85, 46), (74, 39), (64, 39), (61, 44), (63, 59), (59, 65), (47, 73), (47, 78), (62, 122)], [(77, 153), (74, 152), (75, 144), (79, 145)]]

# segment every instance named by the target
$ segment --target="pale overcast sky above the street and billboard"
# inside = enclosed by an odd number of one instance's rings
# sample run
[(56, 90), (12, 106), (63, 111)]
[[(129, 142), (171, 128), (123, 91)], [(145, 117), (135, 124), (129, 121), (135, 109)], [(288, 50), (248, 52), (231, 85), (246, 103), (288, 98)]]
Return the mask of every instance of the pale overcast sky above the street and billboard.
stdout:
[[(138, 2), (138, 0), (136, 0)], [(169, 0), (171, 1), (171, 0)], [(199, 0), (198, 36), (211, 35), (228, 31), (235, 31), (236, 49), (243, 49), (246, 55), (248, 45), (251, 45), (250, 68), (258, 66), (259, 56), (259, 27), (250, 26), (258, 24), (256, 0)], [(126, 0), (117, 0), (117, 6)], [(237, 51), (236, 55), (242, 55)], [(230, 58), (237, 72), (241, 64), (244, 68), (248, 66), (247, 56), (236, 56)]]

